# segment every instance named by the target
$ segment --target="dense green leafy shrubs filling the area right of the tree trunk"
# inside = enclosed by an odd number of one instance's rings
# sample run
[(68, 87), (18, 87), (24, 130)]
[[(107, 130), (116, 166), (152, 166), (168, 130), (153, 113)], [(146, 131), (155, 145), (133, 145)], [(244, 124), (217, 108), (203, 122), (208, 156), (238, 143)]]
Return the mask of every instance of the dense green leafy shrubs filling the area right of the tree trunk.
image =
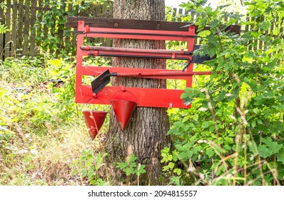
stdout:
[[(197, 13), (193, 23), (203, 38), (197, 54), (215, 59), (204, 66), (213, 71), (211, 77), (181, 96), (192, 108), (171, 111), (173, 148), (161, 154), (171, 184), (284, 183), (284, 6), (282, 1), (245, 4), (251, 20), (244, 22), (239, 14), (222, 11), (224, 6), (183, 4)], [(225, 17), (230, 20), (222, 21)], [(237, 21), (250, 30), (224, 31)], [(204, 26), (211, 28), (202, 31)]]

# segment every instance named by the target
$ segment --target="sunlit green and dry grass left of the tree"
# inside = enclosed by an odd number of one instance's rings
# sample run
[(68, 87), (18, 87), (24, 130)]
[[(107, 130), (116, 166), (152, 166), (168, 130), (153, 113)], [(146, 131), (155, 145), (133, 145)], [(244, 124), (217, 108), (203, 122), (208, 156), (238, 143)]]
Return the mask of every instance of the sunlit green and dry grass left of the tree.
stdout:
[[(34, 61), (35, 66), (29, 64)], [(72, 175), (72, 163), (83, 150), (96, 154), (103, 134), (91, 140), (81, 114), (90, 106), (73, 99), (64, 106), (62, 99), (69, 96), (59, 91), (69, 91), (69, 83), (61, 88), (47, 83), (52, 66), (41, 61), (7, 59), (0, 64), (0, 126), (5, 130), (0, 134), (6, 136), (0, 137), (0, 185), (88, 184)]]

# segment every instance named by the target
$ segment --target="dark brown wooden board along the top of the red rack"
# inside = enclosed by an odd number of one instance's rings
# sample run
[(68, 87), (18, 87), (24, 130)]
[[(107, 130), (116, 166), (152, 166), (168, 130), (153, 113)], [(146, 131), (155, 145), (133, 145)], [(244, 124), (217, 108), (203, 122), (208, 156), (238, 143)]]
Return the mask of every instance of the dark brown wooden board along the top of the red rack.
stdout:
[[(164, 30), (164, 31), (188, 31), (190, 23), (173, 22), (173, 21), (147, 21), (133, 19), (108, 19), (96, 17), (67, 16), (66, 27), (76, 28), (78, 21), (85, 21), (88, 26), (96, 26), (101, 28), (119, 28), (119, 29), (148, 29), (148, 30)], [(205, 30), (210, 27), (205, 27)], [(198, 26), (196, 26), (198, 30)], [(225, 31), (240, 34), (240, 26), (228, 26)]]

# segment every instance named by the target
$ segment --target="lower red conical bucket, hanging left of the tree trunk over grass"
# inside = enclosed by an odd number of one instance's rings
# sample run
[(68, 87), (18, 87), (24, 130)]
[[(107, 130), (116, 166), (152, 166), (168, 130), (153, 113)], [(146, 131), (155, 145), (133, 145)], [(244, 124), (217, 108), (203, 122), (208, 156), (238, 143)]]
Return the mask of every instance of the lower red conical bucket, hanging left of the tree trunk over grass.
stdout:
[(83, 111), (85, 121), (90, 133), (91, 139), (95, 139), (96, 134), (103, 126), (103, 121), (106, 119), (107, 112), (105, 111)]

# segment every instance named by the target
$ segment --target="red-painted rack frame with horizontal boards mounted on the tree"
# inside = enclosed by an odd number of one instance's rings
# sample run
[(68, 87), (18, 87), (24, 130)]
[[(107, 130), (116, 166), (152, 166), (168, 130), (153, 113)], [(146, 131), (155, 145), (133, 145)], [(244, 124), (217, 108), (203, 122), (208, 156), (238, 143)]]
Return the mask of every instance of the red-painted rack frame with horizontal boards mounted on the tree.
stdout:
[[(83, 40), (85, 37), (99, 37), (99, 38), (113, 38), (113, 39), (143, 39), (143, 40), (167, 40), (167, 41), (186, 41), (188, 49), (186, 51), (192, 52), (194, 46), (195, 26), (188, 26), (188, 32), (184, 31), (158, 31), (158, 30), (137, 30), (137, 29), (103, 29), (96, 27), (84, 26), (84, 21), (78, 21), (78, 31), (84, 34), (77, 36), (77, 64), (76, 64), (76, 103), (81, 104), (111, 104), (111, 100), (124, 99), (128, 101), (135, 101), (137, 106), (147, 107), (163, 107), (163, 108), (183, 108), (188, 109), (191, 105), (183, 104), (181, 94), (183, 90), (179, 89), (146, 89), (133, 88), (123, 86), (106, 86), (98, 94), (93, 94), (91, 86), (82, 85), (82, 76), (98, 76), (106, 69), (118, 73), (158, 73), (161, 71), (178, 71), (168, 69), (133, 69), (123, 67), (107, 67), (107, 66), (83, 66), (83, 56), (88, 56), (91, 53), (95, 54), (94, 50), (82, 50)], [(127, 33), (127, 34), (126, 34)], [(152, 50), (151, 50), (152, 51)], [(118, 51), (120, 52), (120, 51)], [(108, 52), (109, 53), (109, 52)], [(111, 53), (115, 53), (111, 51)], [(124, 54), (126, 52), (123, 52)], [(134, 56), (138, 52), (127, 52)], [(161, 54), (146, 52), (140, 53), (145, 55)], [(164, 54), (163, 54), (164, 55)], [(172, 54), (173, 55), (173, 54)], [(188, 59), (192, 59), (191, 55), (183, 55)], [(174, 59), (173, 55), (173, 59)], [(188, 72), (193, 72), (193, 64), (189, 64)], [(165, 79), (164, 76), (151, 76), (155, 79)], [(193, 76), (166, 76), (166, 79), (183, 79), (186, 80), (186, 87), (192, 86)]]

